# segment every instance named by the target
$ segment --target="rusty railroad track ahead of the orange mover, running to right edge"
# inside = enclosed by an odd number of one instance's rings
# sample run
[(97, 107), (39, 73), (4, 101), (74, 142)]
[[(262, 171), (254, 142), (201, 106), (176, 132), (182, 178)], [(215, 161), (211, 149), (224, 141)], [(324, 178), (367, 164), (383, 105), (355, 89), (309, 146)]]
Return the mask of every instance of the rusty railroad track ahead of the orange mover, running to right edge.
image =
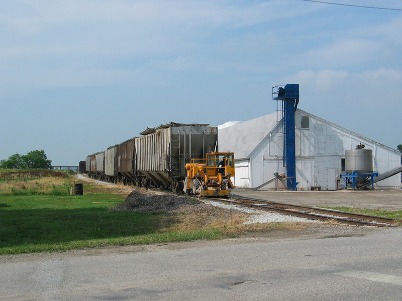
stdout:
[(402, 220), (372, 216), (358, 213), (349, 213), (331, 209), (323, 209), (308, 206), (290, 205), (272, 201), (263, 201), (258, 199), (216, 199), (204, 198), (211, 201), (228, 203), (232, 205), (251, 207), (265, 211), (277, 212), (297, 217), (309, 218), (320, 221), (336, 221), (342, 224), (358, 225), (358, 226), (377, 226), (377, 227), (392, 227), (402, 225)]

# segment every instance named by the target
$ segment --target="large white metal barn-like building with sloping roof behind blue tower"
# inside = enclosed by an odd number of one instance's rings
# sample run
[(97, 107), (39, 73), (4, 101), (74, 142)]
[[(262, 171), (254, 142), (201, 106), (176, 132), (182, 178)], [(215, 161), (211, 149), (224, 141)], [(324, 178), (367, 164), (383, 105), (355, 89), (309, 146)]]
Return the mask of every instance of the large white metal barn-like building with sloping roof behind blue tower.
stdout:
[[(234, 152), (236, 187), (285, 189), (285, 181), (273, 180), (283, 167), (282, 125), (276, 113), (219, 127), (220, 152)], [(297, 190), (340, 189), (345, 150), (359, 143), (373, 150), (373, 170), (379, 174), (400, 166), (401, 153), (306, 111), (295, 112)], [(272, 181), (271, 181), (272, 180)], [(269, 182), (269, 183), (267, 183)], [(379, 189), (399, 189), (400, 174), (374, 184)]]

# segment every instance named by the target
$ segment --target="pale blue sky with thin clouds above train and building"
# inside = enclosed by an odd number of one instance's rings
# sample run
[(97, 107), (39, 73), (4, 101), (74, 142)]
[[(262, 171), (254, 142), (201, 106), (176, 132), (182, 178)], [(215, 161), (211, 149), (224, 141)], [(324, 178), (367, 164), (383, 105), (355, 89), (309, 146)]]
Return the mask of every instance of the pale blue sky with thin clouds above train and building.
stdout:
[(77, 166), (148, 126), (250, 120), (287, 83), (300, 109), (396, 148), (402, 2), (331, 2), (4, 1), (0, 160)]

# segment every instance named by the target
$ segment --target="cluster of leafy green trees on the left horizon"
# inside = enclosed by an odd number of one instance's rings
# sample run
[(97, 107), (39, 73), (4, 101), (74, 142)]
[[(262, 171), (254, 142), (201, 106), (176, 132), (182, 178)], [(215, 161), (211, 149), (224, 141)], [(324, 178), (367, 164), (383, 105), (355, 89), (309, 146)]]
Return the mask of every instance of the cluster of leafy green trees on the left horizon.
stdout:
[(42, 150), (31, 150), (27, 155), (14, 154), (7, 160), (0, 161), (0, 168), (10, 169), (52, 169), (52, 161), (47, 159)]

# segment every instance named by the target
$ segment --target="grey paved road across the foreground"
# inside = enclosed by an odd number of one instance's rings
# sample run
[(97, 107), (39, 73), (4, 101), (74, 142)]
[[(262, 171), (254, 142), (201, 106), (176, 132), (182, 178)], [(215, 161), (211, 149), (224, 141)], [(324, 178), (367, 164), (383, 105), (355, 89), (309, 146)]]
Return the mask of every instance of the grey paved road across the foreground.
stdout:
[(402, 229), (362, 233), (0, 256), (0, 300), (400, 300)]

